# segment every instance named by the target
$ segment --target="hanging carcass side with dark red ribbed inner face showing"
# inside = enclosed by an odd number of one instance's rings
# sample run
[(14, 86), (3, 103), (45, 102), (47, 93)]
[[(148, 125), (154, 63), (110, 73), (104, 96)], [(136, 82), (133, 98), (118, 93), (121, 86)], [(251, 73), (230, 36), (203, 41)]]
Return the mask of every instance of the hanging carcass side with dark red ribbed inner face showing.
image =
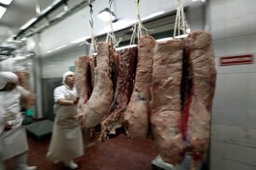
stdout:
[(122, 127), (124, 112), (131, 98), (137, 65), (137, 47), (125, 48), (119, 51), (119, 73), (117, 87), (113, 99), (113, 110), (102, 121), (100, 139), (107, 139), (110, 134), (116, 134), (116, 129)]

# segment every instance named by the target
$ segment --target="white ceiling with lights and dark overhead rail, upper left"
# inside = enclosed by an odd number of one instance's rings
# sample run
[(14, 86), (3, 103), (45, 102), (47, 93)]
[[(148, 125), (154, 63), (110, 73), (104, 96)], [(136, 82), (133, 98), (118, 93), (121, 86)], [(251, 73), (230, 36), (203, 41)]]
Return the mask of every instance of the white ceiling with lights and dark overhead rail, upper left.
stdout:
[[(47, 26), (82, 8), (84, 4), (88, 4), (88, 1), (13, 0), (6, 6), (7, 11), (0, 19), (0, 60), (13, 55), (15, 49), (24, 47), (24, 38), (43, 31)], [(28, 23), (30, 24), (27, 25)], [(21, 28), (25, 24), (25, 28)]]

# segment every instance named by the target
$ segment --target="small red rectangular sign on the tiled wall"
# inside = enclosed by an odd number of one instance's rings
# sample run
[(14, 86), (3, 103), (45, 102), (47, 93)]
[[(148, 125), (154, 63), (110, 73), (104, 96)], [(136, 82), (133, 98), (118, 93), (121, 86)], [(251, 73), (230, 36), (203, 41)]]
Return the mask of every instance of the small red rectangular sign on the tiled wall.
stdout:
[(253, 54), (227, 56), (219, 58), (219, 65), (245, 65), (253, 63)]

